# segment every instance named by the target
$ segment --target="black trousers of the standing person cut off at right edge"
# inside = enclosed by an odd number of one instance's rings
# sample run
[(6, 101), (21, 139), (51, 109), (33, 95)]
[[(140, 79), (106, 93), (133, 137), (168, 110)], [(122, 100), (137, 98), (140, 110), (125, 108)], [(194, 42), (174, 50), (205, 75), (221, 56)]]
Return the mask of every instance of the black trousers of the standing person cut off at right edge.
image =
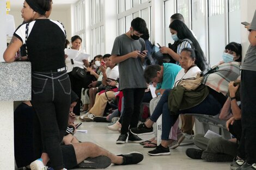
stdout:
[[(242, 70), (241, 107), (242, 137), (238, 156), (249, 164), (256, 163), (256, 71)], [(244, 146), (244, 147), (243, 147)]]

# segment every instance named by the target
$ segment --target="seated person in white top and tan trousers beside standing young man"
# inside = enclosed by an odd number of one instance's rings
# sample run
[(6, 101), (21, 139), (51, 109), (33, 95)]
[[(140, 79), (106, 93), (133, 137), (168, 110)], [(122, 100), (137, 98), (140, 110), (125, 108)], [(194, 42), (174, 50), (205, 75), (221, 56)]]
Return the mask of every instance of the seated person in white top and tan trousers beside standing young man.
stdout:
[(115, 99), (114, 92), (118, 90), (117, 80), (119, 78), (118, 65), (112, 62), (112, 58), (109, 57), (106, 62), (107, 69), (102, 68), (102, 84), (109, 87), (111, 90), (102, 90), (96, 94), (95, 104), (87, 114), (80, 116), (80, 120), (91, 122), (95, 116), (103, 116), (106, 104), (108, 100)]

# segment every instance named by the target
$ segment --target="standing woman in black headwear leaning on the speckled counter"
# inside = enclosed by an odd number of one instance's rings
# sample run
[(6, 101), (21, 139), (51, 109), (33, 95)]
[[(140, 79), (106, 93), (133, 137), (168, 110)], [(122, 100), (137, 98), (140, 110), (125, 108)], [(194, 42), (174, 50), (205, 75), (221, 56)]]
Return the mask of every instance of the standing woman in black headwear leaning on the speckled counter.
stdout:
[(50, 159), (54, 169), (64, 169), (60, 141), (66, 131), (70, 80), (66, 73), (64, 48), (66, 32), (62, 23), (48, 20), (50, 0), (26, 0), (21, 24), (3, 54), (6, 62), (15, 61), (15, 53), (23, 44), (32, 66), (32, 105), (34, 118), (34, 152), (32, 169), (44, 169)]

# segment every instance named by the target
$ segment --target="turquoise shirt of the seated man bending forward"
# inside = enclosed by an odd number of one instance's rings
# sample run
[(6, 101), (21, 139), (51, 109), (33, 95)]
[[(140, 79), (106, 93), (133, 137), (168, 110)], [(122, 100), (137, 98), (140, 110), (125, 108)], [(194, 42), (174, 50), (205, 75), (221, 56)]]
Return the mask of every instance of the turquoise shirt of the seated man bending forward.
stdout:
[(181, 70), (179, 65), (173, 63), (163, 63), (163, 81), (157, 83), (156, 90), (158, 89), (172, 89), (175, 77)]

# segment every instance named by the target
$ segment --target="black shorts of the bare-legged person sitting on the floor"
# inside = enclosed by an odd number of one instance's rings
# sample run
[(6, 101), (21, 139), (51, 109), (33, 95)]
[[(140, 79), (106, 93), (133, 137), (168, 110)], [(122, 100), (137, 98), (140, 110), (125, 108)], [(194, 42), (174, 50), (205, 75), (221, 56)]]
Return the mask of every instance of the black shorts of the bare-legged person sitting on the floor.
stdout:
[[(72, 144), (61, 145), (60, 149), (62, 149), (62, 158), (64, 163), (64, 168), (72, 169), (77, 166), (76, 153), (74, 146)], [(51, 162), (47, 163), (48, 167), (51, 167)]]

